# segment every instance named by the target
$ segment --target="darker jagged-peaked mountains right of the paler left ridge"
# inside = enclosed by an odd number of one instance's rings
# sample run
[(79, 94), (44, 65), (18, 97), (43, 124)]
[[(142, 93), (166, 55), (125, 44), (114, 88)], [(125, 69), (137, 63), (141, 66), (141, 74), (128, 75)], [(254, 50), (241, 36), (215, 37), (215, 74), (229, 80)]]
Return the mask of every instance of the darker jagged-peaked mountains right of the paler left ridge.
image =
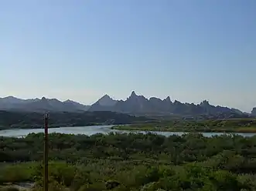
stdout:
[[(212, 106), (207, 100), (200, 102), (200, 104), (194, 103), (182, 103), (177, 100), (174, 102), (166, 97), (166, 99), (159, 99), (152, 97), (146, 99), (143, 95), (136, 95), (133, 91), (131, 95), (123, 100), (111, 99), (108, 95), (104, 95), (111, 105), (103, 105), (99, 99), (95, 102), (88, 111), (113, 111), (113, 112), (125, 112), (132, 114), (147, 114), (147, 115), (178, 115), (178, 116), (220, 116), (220, 118), (232, 118), (232, 117), (246, 117), (246, 113), (241, 112), (239, 109), (230, 109), (223, 106)], [(115, 102), (115, 104), (114, 104)]]

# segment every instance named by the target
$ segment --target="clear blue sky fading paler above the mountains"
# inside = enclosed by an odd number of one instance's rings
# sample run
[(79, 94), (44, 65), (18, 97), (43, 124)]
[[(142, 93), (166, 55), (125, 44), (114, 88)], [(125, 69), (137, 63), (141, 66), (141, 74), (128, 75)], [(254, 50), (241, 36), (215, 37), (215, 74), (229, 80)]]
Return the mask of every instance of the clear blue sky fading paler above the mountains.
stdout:
[(0, 1), (0, 97), (256, 106), (255, 0)]

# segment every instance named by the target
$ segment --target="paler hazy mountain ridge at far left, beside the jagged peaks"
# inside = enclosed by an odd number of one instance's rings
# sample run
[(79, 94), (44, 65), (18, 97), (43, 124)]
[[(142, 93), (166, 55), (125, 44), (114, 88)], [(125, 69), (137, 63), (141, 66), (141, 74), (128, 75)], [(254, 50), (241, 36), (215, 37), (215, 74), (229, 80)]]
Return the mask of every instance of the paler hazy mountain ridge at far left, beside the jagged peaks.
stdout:
[(90, 106), (79, 102), (58, 99), (18, 99), (12, 96), (0, 98), (0, 110), (22, 112), (84, 112)]

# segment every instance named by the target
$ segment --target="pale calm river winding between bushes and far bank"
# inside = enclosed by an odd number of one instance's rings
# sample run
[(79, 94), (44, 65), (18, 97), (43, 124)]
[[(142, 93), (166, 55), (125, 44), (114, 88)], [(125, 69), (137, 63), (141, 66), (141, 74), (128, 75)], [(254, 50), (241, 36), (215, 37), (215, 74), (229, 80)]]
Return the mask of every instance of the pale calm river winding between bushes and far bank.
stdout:
[[(9, 137), (23, 137), (27, 136), (29, 133), (35, 132), (43, 132), (43, 129), (8, 129), (8, 130), (0, 130), (0, 136), (9, 136)], [(65, 134), (84, 134), (87, 136), (94, 135), (96, 133), (108, 134), (109, 132), (141, 132), (147, 133), (145, 131), (125, 131), (125, 130), (116, 130), (111, 129), (111, 126), (84, 126), (84, 127), (60, 127), (60, 128), (50, 128), (49, 133), (51, 132), (60, 132)], [(163, 136), (171, 136), (171, 135), (183, 135), (187, 132), (153, 132), (155, 134), (163, 135)], [(221, 136), (224, 135), (224, 132), (202, 132), (203, 136)], [(255, 136), (256, 133), (235, 133), (241, 136)]]

